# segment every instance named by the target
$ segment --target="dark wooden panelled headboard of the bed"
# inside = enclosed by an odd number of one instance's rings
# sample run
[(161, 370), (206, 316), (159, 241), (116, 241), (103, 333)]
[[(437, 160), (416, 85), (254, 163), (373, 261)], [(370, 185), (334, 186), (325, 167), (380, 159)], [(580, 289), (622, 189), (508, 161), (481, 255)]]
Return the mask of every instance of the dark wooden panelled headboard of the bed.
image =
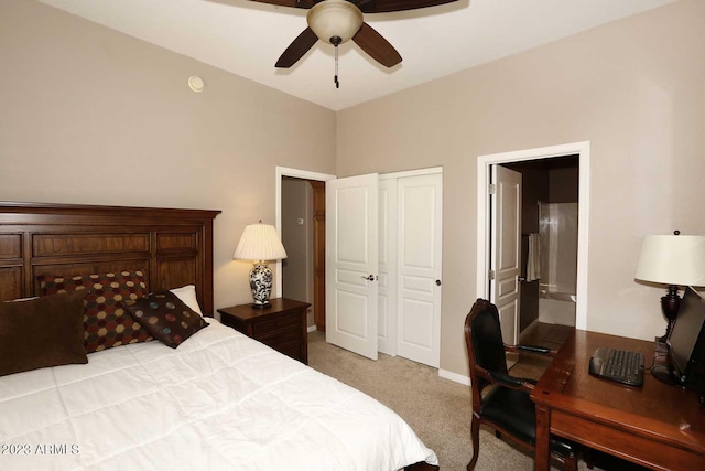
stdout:
[(0, 202), (0, 301), (39, 296), (39, 275), (144, 270), (148, 289), (195, 285), (213, 317), (219, 211)]

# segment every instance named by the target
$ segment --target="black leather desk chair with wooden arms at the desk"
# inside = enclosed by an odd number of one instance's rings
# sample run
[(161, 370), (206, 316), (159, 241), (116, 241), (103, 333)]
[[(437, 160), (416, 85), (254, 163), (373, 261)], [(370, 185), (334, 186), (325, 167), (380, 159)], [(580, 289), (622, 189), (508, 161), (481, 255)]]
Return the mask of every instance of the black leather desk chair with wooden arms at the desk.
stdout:
[[(555, 352), (536, 346), (506, 345), (497, 307), (484, 299), (475, 302), (465, 319), (465, 342), (473, 387), (473, 459), (467, 465), (471, 471), (479, 456), (480, 424), (494, 428), (498, 438), (503, 433), (528, 450), (534, 450), (536, 417), (534, 404), (529, 398), (534, 382), (509, 375), (505, 353), (553, 355)], [(482, 397), (488, 386), (492, 387)], [(551, 437), (551, 457), (561, 461), (566, 470), (577, 470), (574, 443)]]

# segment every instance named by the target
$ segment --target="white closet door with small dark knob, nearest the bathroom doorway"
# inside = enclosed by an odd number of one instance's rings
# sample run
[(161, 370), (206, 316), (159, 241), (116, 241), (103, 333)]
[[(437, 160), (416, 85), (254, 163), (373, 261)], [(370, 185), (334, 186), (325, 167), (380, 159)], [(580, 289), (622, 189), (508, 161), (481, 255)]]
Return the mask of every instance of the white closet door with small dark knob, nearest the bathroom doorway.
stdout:
[(433, 367), (441, 363), (443, 176), (400, 178), (398, 185), (398, 350)]

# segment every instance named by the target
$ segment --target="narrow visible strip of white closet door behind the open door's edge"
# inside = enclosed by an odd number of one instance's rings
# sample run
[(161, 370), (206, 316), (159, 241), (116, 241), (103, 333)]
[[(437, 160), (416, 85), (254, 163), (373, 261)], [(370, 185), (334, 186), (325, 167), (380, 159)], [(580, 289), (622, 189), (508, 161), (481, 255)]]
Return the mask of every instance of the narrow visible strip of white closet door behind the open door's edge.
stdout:
[(397, 355), (397, 179), (379, 181), (378, 350)]

